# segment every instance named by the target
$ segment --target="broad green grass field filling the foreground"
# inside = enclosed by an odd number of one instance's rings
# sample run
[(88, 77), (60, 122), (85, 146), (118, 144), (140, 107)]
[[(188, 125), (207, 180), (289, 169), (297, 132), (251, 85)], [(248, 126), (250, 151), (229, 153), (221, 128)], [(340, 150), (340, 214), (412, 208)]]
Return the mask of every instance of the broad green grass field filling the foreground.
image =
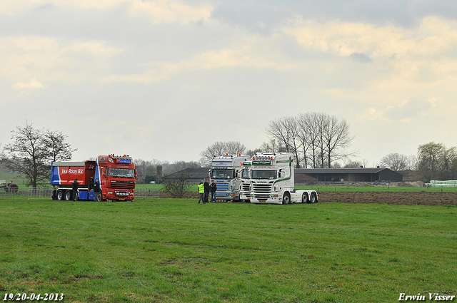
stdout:
[(398, 302), (457, 288), (453, 206), (16, 199), (0, 215), (0, 294)]

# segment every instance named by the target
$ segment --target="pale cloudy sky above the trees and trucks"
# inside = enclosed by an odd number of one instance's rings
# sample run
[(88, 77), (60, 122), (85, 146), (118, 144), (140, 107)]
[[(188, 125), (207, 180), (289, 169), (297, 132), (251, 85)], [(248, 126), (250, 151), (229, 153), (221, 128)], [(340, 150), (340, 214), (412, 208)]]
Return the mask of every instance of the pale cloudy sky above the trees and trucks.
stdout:
[(457, 1), (0, 0), (0, 144), (198, 161), (275, 118), (346, 120), (351, 160), (457, 146)]

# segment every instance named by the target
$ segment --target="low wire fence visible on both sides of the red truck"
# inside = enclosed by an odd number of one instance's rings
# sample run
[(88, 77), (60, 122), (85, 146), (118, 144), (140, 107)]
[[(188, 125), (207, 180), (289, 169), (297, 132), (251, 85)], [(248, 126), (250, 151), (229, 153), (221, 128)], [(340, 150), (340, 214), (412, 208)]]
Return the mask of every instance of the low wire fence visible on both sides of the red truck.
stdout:
[[(3, 199), (52, 199), (52, 188), (29, 188), (17, 192), (0, 190), (0, 200)], [(160, 197), (160, 188), (136, 188), (135, 197)]]

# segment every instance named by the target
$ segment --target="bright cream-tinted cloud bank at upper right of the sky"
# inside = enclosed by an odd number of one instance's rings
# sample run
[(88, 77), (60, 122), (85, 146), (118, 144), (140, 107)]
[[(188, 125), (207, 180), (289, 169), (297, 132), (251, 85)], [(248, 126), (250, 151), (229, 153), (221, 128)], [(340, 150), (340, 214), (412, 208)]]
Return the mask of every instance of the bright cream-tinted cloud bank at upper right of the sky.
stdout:
[(353, 53), (371, 58), (431, 56), (457, 44), (457, 22), (428, 17), (417, 29), (365, 23), (296, 19), (283, 29), (303, 47), (336, 56)]

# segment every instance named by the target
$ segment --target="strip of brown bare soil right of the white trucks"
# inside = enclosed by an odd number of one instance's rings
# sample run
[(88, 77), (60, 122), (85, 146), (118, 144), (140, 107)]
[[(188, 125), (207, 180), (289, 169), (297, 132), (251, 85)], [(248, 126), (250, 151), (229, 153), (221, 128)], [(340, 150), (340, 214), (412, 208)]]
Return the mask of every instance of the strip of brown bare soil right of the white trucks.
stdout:
[(319, 192), (319, 202), (457, 205), (457, 192)]

